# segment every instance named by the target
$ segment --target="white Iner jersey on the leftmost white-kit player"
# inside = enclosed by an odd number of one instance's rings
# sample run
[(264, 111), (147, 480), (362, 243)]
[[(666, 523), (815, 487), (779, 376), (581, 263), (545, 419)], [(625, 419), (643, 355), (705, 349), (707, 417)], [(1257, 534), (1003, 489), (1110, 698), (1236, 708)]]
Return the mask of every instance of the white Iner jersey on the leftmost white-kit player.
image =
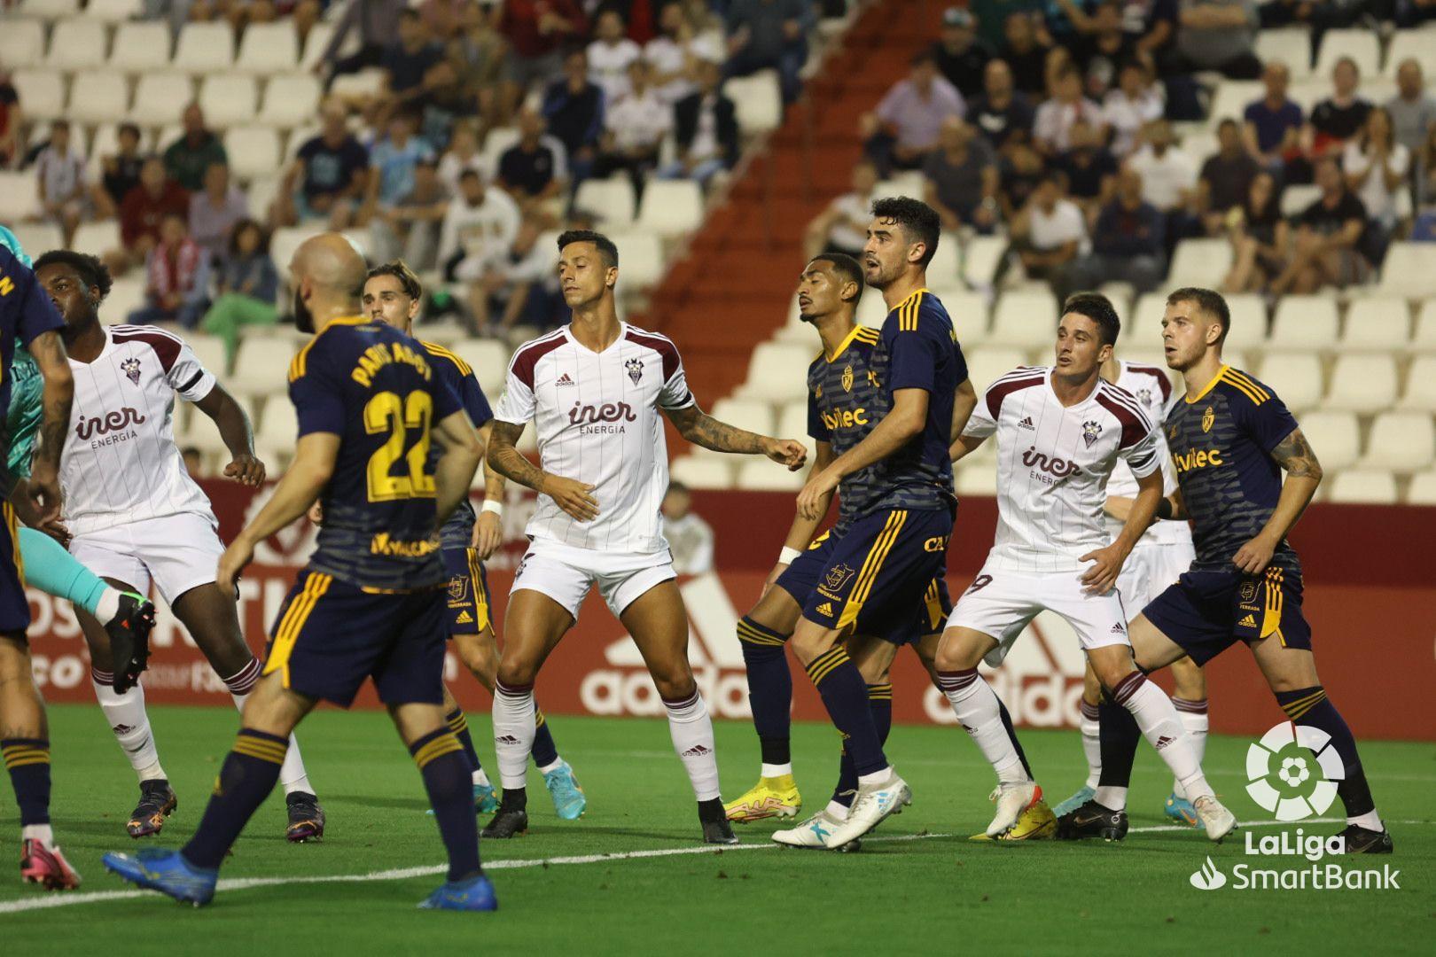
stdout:
[(198, 402), (214, 376), (182, 339), (154, 326), (109, 326), (105, 337), (95, 362), (70, 359), (75, 403), (60, 462), (70, 534), (180, 512), (214, 522), (174, 435), (175, 395)]

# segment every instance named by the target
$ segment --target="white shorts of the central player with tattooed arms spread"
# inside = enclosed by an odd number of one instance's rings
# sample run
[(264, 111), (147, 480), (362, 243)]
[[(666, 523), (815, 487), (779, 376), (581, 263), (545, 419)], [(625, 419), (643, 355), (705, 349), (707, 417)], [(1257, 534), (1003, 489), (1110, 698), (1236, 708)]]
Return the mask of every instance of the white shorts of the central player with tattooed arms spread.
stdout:
[(579, 607), (595, 584), (609, 610), (619, 616), (645, 591), (676, 577), (666, 548), (648, 554), (610, 552), (537, 538), (518, 562), (510, 594), (524, 588), (546, 594), (577, 621)]

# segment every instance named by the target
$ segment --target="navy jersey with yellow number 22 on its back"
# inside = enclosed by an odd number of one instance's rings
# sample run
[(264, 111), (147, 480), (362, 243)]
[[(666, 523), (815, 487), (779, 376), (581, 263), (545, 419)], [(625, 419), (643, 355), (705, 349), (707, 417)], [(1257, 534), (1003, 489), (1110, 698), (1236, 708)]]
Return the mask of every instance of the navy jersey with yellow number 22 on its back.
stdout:
[(375, 591), (447, 581), (431, 426), (461, 410), (418, 340), (362, 317), (333, 320), (294, 356), (299, 435), (337, 435), (310, 568)]

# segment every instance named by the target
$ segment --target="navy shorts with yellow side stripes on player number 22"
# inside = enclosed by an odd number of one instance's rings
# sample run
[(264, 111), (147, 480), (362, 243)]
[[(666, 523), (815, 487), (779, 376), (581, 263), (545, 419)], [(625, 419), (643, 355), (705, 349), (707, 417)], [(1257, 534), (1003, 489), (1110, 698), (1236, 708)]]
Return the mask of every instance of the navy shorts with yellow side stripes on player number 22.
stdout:
[(306, 568), (274, 620), (264, 674), (349, 707), (372, 677), (385, 704), (444, 703), (444, 590), (372, 593)]

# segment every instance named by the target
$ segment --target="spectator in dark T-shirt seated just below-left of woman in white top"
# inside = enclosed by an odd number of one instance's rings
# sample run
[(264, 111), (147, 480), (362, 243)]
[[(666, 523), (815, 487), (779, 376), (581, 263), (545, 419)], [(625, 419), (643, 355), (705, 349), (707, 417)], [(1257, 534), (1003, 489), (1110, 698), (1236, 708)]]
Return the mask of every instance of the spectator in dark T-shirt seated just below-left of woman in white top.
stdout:
[(1347, 189), (1334, 158), (1318, 159), (1313, 172), (1321, 198), (1297, 217), (1291, 260), (1271, 284), (1277, 296), (1346, 286), (1357, 273), (1356, 253), (1366, 232), (1366, 207)]

